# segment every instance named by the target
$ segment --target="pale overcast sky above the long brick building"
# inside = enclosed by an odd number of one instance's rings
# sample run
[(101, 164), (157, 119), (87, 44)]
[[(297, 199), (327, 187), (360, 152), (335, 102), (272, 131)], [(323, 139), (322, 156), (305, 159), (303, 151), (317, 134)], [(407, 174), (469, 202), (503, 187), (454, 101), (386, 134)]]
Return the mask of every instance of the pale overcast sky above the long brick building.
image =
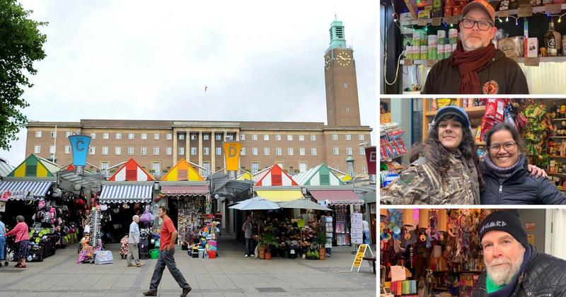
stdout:
[[(323, 54), (336, 13), (354, 49), (362, 124), (376, 128), (374, 1), (20, 3), (49, 22), (47, 57), (24, 93), (28, 120), (326, 122)], [(11, 165), (25, 158), (25, 132), (0, 150)]]

